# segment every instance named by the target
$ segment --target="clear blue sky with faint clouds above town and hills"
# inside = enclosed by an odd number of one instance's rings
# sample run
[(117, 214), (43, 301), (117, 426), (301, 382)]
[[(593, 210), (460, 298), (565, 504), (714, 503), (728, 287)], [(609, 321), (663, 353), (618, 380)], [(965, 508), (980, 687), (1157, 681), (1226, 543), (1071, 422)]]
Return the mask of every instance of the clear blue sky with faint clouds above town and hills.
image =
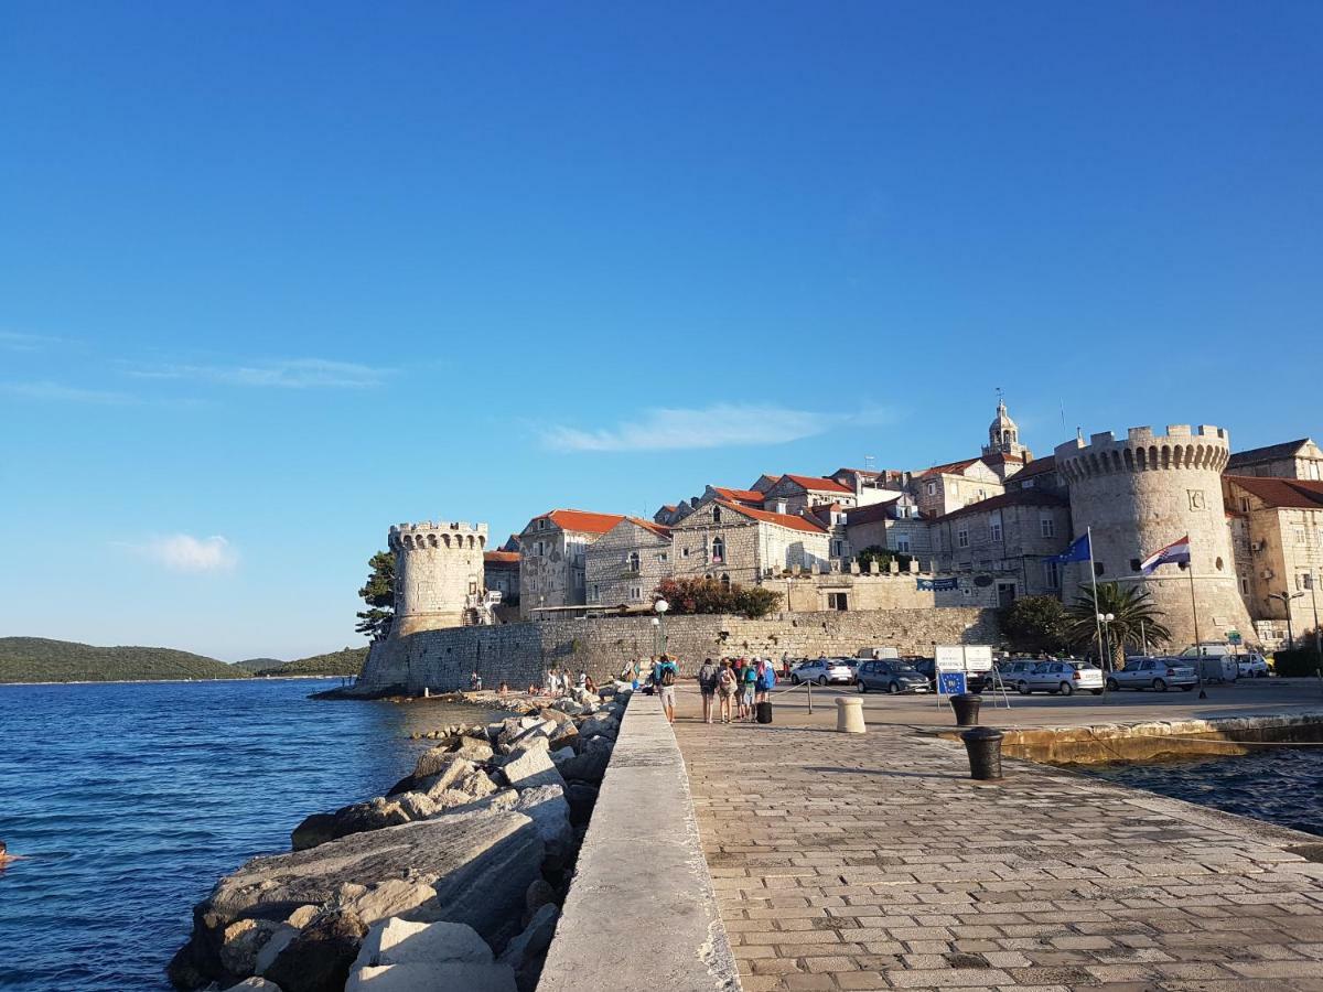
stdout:
[(390, 522), (951, 460), (996, 386), (1039, 452), (1318, 438), (1320, 48), (1316, 3), (0, 3), (0, 634), (339, 648)]

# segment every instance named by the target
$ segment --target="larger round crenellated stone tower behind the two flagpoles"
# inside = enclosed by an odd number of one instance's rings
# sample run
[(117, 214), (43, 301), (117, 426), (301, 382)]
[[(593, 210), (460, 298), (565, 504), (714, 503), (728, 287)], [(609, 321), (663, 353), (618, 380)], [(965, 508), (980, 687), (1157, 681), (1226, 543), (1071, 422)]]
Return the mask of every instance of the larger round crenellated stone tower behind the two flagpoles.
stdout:
[[(1147, 589), (1167, 615), (1171, 651), (1195, 643), (1189, 573), (1162, 565), (1146, 577), (1139, 562), (1185, 534), (1200, 638), (1222, 640), (1228, 631), (1248, 636), (1254, 630), (1237, 590), (1230, 528), (1222, 509), (1221, 472), (1230, 458), (1229, 444), (1221, 427), (1174, 425), (1164, 435), (1155, 435), (1151, 427), (1131, 427), (1125, 440), (1109, 431), (1094, 434), (1088, 444), (1077, 438), (1056, 450), (1057, 471), (1070, 491), (1074, 532), (1093, 530), (1098, 581)], [(1068, 591), (1089, 578), (1088, 562), (1072, 567), (1076, 585), (1064, 582)]]

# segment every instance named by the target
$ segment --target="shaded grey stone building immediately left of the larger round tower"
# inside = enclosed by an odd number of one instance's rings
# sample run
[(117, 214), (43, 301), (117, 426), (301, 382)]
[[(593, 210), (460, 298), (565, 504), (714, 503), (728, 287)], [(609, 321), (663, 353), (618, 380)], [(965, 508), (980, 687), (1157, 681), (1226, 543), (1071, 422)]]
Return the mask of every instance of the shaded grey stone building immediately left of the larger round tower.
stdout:
[(960, 583), (966, 599), (975, 589), (995, 594), (995, 606), (1027, 595), (1062, 597), (1062, 566), (1043, 558), (1070, 544), (1064, 496), (1041, 489), (1003, 493), (937, 517), (929, 532), (937, 571), (972, 579)]

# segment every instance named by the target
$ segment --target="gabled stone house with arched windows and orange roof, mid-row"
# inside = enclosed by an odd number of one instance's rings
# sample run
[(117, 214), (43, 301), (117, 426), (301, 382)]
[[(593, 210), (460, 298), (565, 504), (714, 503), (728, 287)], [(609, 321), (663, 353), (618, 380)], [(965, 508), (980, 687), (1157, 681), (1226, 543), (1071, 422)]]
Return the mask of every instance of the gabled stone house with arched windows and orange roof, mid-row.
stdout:
[(703, 504), (671, 529), (672, 574), (753, 585), (769, 571), (826, 569), (827, 530), (812, 518), (737, 503)]

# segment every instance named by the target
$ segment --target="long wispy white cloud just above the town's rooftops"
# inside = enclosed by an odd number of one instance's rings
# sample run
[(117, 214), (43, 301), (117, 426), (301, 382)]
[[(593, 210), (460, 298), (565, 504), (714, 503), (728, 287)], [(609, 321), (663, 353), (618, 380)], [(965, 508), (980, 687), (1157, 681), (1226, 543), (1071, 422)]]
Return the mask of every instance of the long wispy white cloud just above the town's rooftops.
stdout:
[(663, 451), (785, 444), (847, 426), (885, 423), (882, 407), (819, 413), (783, 406), (717, 403), (703, 409), (659, 407), (614, 427), (581, 430), (553, 426), (542, 443), (556, 451)]

